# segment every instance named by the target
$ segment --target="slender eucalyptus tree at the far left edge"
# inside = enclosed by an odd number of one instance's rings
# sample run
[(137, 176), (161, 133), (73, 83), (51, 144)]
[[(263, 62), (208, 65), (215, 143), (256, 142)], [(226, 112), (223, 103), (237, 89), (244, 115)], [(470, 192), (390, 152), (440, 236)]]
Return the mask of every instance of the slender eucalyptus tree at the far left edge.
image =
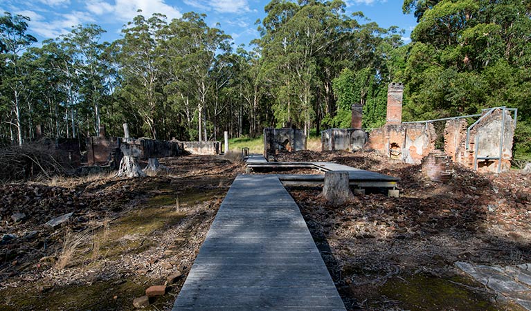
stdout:
[[(37, 42), (33, 35), (26, 33), (28, 30), (29, 17), (22, 15), (11, 15), (10, 12), (4, 12), (0, 17), (0, 48), (3, 50), (2, 62), (6, 64), (3, 73), (2, 95), (8, 99), (15, 111), (15, 126), (17, 127), (18, 143), (21, 145), (22, 124), (21, 124), (21, 96), (24, 88), (24, 75), (19, 68), (19, 59), (22, 51), (28, 46)], [(6, 93), (10, 93), (9, 95)], [(10, 121), (5, 121), (10, 122)], [(10, 122), (12, 124), (12, 122)]]

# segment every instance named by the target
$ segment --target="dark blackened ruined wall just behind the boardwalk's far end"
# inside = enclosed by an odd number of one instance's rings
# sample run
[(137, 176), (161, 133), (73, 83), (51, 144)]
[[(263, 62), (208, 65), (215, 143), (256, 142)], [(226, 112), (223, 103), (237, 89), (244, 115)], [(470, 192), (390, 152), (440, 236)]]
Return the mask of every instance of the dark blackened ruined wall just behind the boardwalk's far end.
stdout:
[(264, 129), (264, 156), (278, 151), (306, 150), (306, 135), (300, 129)]

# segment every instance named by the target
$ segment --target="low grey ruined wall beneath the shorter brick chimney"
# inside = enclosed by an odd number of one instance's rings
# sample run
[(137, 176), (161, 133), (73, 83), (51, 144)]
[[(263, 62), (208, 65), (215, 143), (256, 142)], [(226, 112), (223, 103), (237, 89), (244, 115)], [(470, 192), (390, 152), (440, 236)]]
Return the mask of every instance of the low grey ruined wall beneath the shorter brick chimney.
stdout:
[(327, 129), (321, 131), (321, 150), (360, 150), (367, 137), (367, 133), (361, 129)]

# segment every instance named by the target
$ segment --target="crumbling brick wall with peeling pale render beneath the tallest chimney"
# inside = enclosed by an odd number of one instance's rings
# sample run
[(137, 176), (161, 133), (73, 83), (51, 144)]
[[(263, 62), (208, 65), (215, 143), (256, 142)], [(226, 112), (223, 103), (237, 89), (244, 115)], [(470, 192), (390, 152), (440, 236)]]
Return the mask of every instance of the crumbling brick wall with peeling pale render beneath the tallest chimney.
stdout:
[(435, 150), (433, 124), (386, 124), (369, 133), (366, 148), (374, 149), (390, 158), (418, 164)]

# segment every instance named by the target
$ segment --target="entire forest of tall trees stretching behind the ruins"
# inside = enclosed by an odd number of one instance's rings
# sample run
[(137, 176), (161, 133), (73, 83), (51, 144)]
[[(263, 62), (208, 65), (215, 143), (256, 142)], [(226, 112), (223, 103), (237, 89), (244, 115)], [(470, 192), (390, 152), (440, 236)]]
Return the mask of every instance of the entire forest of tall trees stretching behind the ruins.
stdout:
[[(28, 17), (0, 17), (0, 144), (121, 135), (219, 140), (287, 122), (319, 133), (385, 122), (387, 86), (403, 82), (404, 120), (519, 109), (515, 158), (531, 154), (531, 2), (404, 0), (417, 26), (404, 44), (341, 0), (272, 0), (260, 37), (233, 46), (196, 12), (138, 12), (120, 39), (96, 24), (37, 44)], [(314, 132), (315, 131), (315, 132)]]

